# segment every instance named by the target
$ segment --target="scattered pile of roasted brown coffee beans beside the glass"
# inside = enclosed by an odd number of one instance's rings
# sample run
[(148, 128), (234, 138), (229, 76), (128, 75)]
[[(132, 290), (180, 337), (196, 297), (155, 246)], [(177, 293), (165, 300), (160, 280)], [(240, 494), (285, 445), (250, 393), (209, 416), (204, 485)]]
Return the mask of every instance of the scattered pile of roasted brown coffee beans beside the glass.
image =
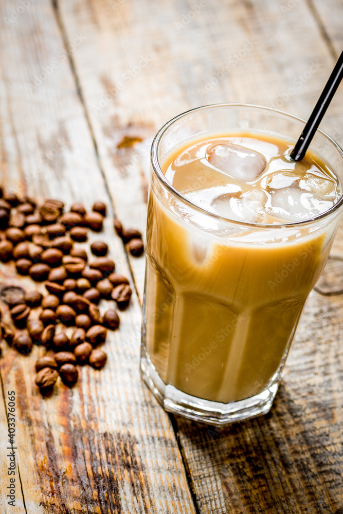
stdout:
[[(2, 287), (0, 299), (8, 305), (12, 323), (0, 323), (1, 337), (24, 355), (32, 344), (46, 347), (35, 364), (35, 382), (42, 393), (53, 388), (58, 376), (73, 386), (78, 365), (104, 366), (107, 356), (98, 345), (105, 342), (107, 329), (119, 327), (120, 319), (114, 308), (101, 315), (97, 304), (112, 299), (120, 310), (129, 305), (129, 280), (115, 272), (107, 244), (92, 243), (94, 258), (89, 262), (87, 252), (75, 246), (87, 241), (88, 229), (102, 230), (105, 215), (102, 201), (96, 201), (91, 212), (80, 203), (64, 212), (60, 200), (38, 205), (0, 188), (0, 260), (13, 260), (17, 273), (44, 282), (46, 289), (42, 295), (14, 285)], [(143, 253), (138, 230), (124, 229), (117, 219), (114, 228), (132, 255)]]

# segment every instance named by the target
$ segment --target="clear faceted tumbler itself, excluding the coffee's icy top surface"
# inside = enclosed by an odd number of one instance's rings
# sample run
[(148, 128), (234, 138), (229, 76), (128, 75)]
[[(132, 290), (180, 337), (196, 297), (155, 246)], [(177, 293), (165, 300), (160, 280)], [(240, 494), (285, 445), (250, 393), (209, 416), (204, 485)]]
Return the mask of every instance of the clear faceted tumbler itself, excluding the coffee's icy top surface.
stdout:
[[(300, 314), (326, 264), (343, 197), (308, 221), (232, 221), (191, 203), (161, 168), (180, 144), (251, 131), (294, 140), (304, 121), (239, 104), (193, 109), (151, 149), (141, 374), (168, 411), (222, 425), (269, 411)], [(343, 181), (343, 152), (311, 149)]]

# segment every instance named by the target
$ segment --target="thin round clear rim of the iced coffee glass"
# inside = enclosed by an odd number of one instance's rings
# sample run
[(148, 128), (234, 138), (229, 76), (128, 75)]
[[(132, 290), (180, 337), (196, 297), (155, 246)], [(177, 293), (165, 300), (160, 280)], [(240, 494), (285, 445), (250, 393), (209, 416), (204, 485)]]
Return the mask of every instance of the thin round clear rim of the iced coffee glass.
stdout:
[[(153, 139), (153, 142), (152, 142), (152, 145), (151, 145), (151, 152), (150, 152), (151, 164), (152, 164), (152, 167), (153, 167), (153, 169), (154, 169), (154, 171), (156, 173), (156, 176), (160, 180), (160, 182), (163, 184), (163, 186), (165, 186), (166, 189), (171, 194), (173, 194), (178, 199), (182, 200), (186, 205), (189, 205), (192, 209), (195, 209), (198, 212), (201, 212), (203, 214), (209, 215), (209, 216), (211, 216), (211, 217), (213, 217), (215, 219), (220, 219), (221, 221), (224, 221), (226, 223), (230, 222), (230, 223), (233, 223), (235, 225), (240, 225), (240, 226), (245, 226), (245, 227), (252, 227), (252, 228), (269, 228), (270, 229), (270, 228), (284, 228), (285, 226), (287, 226), (287, 227), (294, 227), (294, 226), (299, 227), (299, 226), (302, 226), (302, 225), (307, 225), (309, 223), (316, 222), (316, 221), (318, 221), (318, 219), (325, 218), (325, 217), (329, 216), (330, 214), (332, 214), (333, 212), (335, 212), (337, 209), (339, 209), (339, 207), (341, 207), (341, 205), (343, 204), (343, 193), (341, 194), (340, 198), (338, 199), (338, 201), (337, 201), (337, 203), (335, 205), (330, 207), (330, 209), (328, 209), (327, 211), (324, 211), (324, 212), (322, 212), (322, 213), (320, 213), (317, 216), (314, 216), (312, 218), (303, 219), (303, 220), (298, 221), (298, 222), (288, 222), (288, 223), (252, 223), (252, 222), (245, 222), (243, 220), (241, 221), (241, 220), (238, 220), (238, 219), (231, 219), (231, 218), (228, 218), (228, 217), (225, 217), (225, 216), (221, 216), (220, 214), (216, 214), (215, 212), (211, 212), (211, 211), (209, 211), (207, 209), (204, 209), (203, 207), (200, 207), (200, 206), (194, 204), (191, 200), (189, 200), (188, 198), (183, 196), (183, 194), (180, 193), (179, 191), (177, 191), (177, 189), (174, 188), (174, 186), (169, 182), (169, 180), (167, 180), (165, 174), (163, 173), (163, 171), (162, 171), (162, 169), (160, 167), (160, 164), (159, 164), (159, 161), (158, 161), (158, 157), (157, 157), (159, 143), (160, 143), (161, 138), (163, 137), (164, 133), (167, 131), (167, 129), (173, 123), (175, 123), (175, 121), (177, 121), (177, 120), (179, 120), (181, 118), (186, 117), (190, 113), (194, 113), (196, 111), (205, 111), (206, 109), (211, 109), (213, 107), (251, 107), (251, 108), (254, 108), (254, 109), (263, 109), (263, 111), (270, 111), (270, 112), (273, 112), (273, 113), (282, 114), (282, 115), (286, 116), (287, 118), (290, 118), (290, 119), (293, 119), (293, 120), (297, 120), (297, 121), (301, 121), (304, 124), (306, 123), (306, 121), (303, 120), (302, 118), (299, 118), (298, 116), (294, 116), (292, 114), (285, 113), (284, 111), (279, 111), (278, 109), (274, 109), (272, 107), (265, 107), (263, 105), (255, 105), (255, 104), (248, 104), (248, 103), (213, 103), (213, 104), (203, 105), (203, 106), (200, 106), (200, 107), (195, 107), (193, 109), (189, 109), (188, 111), (185, 111), (184, 113), (178, 114), (177, 116), (175, 116), (171, 120), (167, 121), (167, 123), (165, 123), (159, 129), (159, 131), (157, 132), (157, 134), (155, 135), (155, 137)], [(338, 153), (340, 154), (340, 156), (342, 158), (342, 162), (343, 162), (343, 150), (336, 143), (336, 141), (334, 139), (332, 139), (332, 137), (330, 137), (326, 132), (322, 131), (320, 128), (317, 128), (316, 132), (319, 132), (331, 144), (333, 144), (333, 146), (335, 146), (335, 148), (336, 148), (336, 150), (338, 150)], [(310, 145), (310, 149), (311, 149), (311, 145)]]

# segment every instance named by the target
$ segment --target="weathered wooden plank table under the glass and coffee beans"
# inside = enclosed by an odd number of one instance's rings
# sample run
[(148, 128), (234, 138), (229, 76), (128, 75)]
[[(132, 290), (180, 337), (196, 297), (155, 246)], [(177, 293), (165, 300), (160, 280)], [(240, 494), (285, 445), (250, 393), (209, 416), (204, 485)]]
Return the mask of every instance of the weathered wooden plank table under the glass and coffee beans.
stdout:
[[(86, 366), (73, 389), (42, 398), (43, 349), (23, 357), (2, 342), (1, 514), (342, 514), (343, 297), (311, 293), (267, 416), (197, 425), (165, 413), (140, 380), (144, 259), (127, 255), (112, 228), (115, 213), (145, 231), (149, 147), (174, 115), (244, 102), (306, 118), (343, 46), (342, 22), (342, 0), (0, 2), (2, 183), (67, 207), (104, 200), (103, 237), (135, 287), (105, 368)], [(321, 126), (343, 143), (342, 87)], [(335, 287), (337, 262), (326, 278)], [(1, 265), (3, 282), (13, 270)]]

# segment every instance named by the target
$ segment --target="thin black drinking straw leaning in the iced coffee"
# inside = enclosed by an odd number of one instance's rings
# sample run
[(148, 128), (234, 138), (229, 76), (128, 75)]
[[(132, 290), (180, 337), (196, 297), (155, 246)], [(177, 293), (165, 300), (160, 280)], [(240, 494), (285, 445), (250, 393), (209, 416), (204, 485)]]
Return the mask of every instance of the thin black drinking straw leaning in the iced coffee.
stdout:
[(315, 108), (309, 118), (309, 121), (306, 123), (304, 130), (301, 133), (294, 149), (291, 153), (291, 158), (295, 161), (301, 160), (306, 150), (309, 148), (309, 145), (312, 141), (312, 138), (318, 128), (319, 123), (321, 122), (322, 117), (326, 113), (329, 104), (336, 93), (336, 89), (340, 84), (340, 81), (343, 78), (343, 51), (340, 54), (336, 66), (334, 67), (332, 74), (326, 86), (324, 87), (322, 94), (319, 97), (318, 102), (316, 103)]

